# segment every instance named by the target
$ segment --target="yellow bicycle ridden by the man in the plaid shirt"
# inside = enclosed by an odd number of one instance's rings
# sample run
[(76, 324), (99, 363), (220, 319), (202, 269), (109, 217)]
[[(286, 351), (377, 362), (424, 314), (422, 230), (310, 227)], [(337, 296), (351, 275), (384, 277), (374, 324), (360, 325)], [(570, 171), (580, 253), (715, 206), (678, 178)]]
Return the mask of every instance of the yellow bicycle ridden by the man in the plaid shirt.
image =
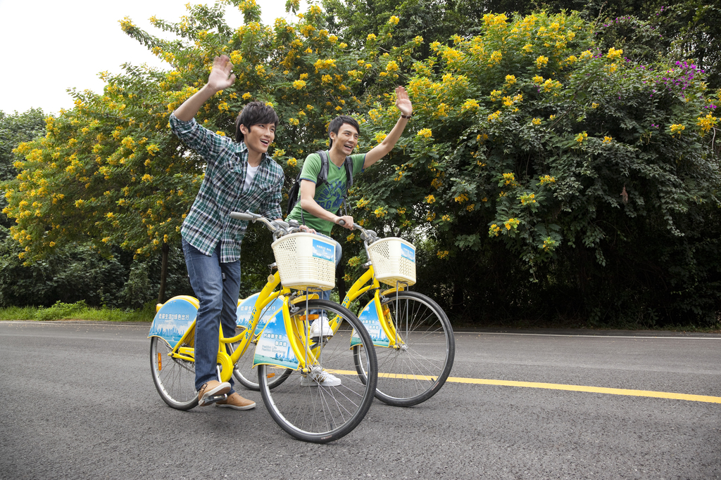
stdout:
[[(378, 370), (371, 337), (358, 317), (312, 294), (335, 285), (335, 243), (257, 214), (233, 212), (231, 217), (260, 221), (273, 232), (278, 271), (257, 294), (247, 327), (230, 338), (220, 329), (218, 378), (228, 381), (254, 343), (257, 385), (283, 430), (314, 443), (347, 435), (371, 406)], [(193, 348), (197, 310), (197, 299), (176, 296), (159, 307), (149, 332), (154, 384), (164, 402), (180, 410), (198, 404)], [(336, 334), (318, 341), (310, 337), (309, 320), (322, 313), (332, 319)], [(359, 350), (366, 350), (363, 356)], [(328, 375), (335, 381), (324, 382)]]

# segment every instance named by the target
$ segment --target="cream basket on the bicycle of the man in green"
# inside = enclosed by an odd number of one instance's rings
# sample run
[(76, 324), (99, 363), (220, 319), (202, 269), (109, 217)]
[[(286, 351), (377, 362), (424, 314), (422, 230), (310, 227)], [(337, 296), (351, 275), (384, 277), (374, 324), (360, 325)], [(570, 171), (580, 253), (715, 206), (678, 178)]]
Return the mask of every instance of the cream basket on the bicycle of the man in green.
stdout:
[(415, 247), (402, 238), (387, 237), (368, 246), (378, 281), (396, 286), (415, 284)]

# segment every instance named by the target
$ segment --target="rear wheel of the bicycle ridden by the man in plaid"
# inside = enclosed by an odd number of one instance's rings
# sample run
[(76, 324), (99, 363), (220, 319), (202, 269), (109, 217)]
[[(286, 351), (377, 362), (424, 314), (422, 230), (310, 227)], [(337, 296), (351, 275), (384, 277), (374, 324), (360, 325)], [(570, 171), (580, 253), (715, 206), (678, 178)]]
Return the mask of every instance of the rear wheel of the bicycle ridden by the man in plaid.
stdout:
[(195, 391), (195, 362), (172, 358), (172, 348), (160, 337), (150, 339), (150, 368), (153, 383), (163, 401), (178, 410), (198, 405)]

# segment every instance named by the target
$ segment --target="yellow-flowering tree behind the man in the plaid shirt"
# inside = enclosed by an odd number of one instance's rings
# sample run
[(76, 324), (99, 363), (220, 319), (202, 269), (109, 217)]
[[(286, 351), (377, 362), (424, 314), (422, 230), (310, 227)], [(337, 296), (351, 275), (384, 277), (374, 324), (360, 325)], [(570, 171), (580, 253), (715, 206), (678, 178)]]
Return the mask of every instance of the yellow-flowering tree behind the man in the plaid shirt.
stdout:
[(130, 19), (120, 22), (171, 69), (126, 65), (122, 75), (103, 73), (102, 95), (74, 92), (75, 108), (48, 118), (45, 138), (19, 146), (25, 160), (15, 165), (21, 173), (8, 186), (4, 212), (17, 219), (12, 235), (25, 248), (22, 258), (37, 261), (74, 240), (89, 240), (106, 254), (118, 245), (136, 255), (179, 242), (205, 163), (170, 134), (168, 117), (203, 85), (215, 55), (229, 55), (237, 79), (196, 119), (234, 135), (244, 104), (273, 105), (281, 124), (270, 153), (288, 178), (298, 159), (327, 145), (332, 117), (358, 111), (355, 91), (373, 76), (373, 57), (348, 51), (330, 35), (319, 7), (298, 14), (296, 24), (278, 19), (269, 27), (260, 23), (255, 1), (236, 5), (245, 19), (237, 28), (224, 22), (221, 3), (189, 6), (177, 23), (151, 19), (180, 41), (149, 35)]

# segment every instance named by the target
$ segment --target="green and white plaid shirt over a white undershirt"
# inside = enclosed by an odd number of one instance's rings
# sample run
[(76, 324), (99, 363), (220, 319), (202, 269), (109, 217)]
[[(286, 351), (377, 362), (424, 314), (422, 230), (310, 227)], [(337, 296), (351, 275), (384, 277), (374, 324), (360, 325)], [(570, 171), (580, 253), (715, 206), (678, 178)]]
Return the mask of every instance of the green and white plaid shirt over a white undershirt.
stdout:
[(205, 178), (180, 233), (187, 243), (211, 255), (221, 243), (221, 262), (240, 258), (240, 244), (248, 222), (230, 217), (230, 212), (260, 212), (270, 219), (282, 217), (280, 189), (283, 168), (263, 153), (249, 189), (243, 191), (248, 168), (248, 148), (201, 127), (195, 119), (183, 122), (170, 115), (170, 127), (185, 145), (208, 163)]

